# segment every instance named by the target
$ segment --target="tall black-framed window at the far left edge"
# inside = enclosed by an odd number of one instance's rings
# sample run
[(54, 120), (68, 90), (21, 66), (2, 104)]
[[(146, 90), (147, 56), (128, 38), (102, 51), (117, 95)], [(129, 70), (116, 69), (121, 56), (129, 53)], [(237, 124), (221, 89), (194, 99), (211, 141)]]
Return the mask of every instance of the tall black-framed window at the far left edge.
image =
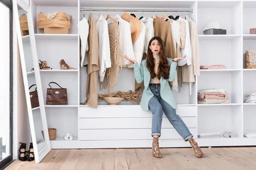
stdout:
[(12, 161), (12, 2), (0, 0), (0, 169)]

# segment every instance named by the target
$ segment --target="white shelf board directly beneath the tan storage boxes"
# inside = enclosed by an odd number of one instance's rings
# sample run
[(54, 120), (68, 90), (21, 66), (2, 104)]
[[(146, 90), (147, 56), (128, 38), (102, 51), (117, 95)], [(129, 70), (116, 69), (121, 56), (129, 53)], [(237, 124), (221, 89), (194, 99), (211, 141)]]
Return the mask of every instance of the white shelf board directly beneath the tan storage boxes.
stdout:
[(78, 34), (35, 34), (36, 39), (77, 40)]

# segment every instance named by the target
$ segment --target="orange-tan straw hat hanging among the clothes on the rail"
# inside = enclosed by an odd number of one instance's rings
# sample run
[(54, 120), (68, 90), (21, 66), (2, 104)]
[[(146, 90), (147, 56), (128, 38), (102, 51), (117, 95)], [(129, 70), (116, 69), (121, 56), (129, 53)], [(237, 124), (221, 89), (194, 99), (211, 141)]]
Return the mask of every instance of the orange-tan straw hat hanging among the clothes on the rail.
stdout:
[(132, 41), (132, 43), (134, 43), (137, 40), (137, 37), (140, 33), (140, 26), (141, 26), (140, 20), (131, 16), (128, 13), (122, 14), (121, 18), (130, 23), (130, 25), (131, 25), (131, 41)]

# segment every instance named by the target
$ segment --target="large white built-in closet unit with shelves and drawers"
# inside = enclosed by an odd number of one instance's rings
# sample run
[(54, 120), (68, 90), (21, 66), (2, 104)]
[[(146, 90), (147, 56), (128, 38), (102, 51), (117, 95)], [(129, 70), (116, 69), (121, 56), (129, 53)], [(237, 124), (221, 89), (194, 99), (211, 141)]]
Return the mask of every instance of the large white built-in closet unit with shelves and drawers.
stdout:
[[(67, 88), (68, 105), (45, 105), (49, 128), (57, 129), (57, 138), (52, 140), (51, 148), (120, 148), (151, 147), (150, 111), (144, 112), (140, 105), (121, 102), (108, 105), (99, 102), (93, 109), (80, 105), (85, 101), (86, 68), (80, 67), (80, 39), (77, 30), (83, 18), (80, 8), (109, 9), (193, 9), (187, 14), (196, 21), (200, 47), (200, 65), (224, 64), (226, 70), (202, 70), (192, 85), (183, 83), (181, 92), (174, 92), (178, 105), (177, 114), (183, 119), (200, 146), (256, 145), (256, 138), (245, 138), (244, 130), (256, 130), (256, 104), (243, 103), (249, 92), (256, 92), (256, 69), (245, 69), (245, 51), (256, 50), (256, 36), (249, 34), (256, 28), (251, 18), (256, 16), (256, 1), (242, 0), (32, 0), (30, 2), (35, 25), (35, 38), (38, 59), (46, 60), (52, 70), (41, 70), (41, 82), (46, 99), (49, 82), (57, 82)], [(72, 14), (69, 34), (43, 34), (36, 28), (38, 13), (64, 11)], [(88, 19), (90, 12), (85, 11)], [(110, 12), (112, 17), (117, 12)], [(122, 15), (123, 12), (119, 12)], [(132, 12), (140, 17), (142, 12)], [(97, 20), (99, 12), (92, 11)], [(108, 12), (101, 12), (106, 17)], [(154, 12), (144, 12), (151, 17)], [(162, 16), (164, 13), (157, 12)], [(168, 13), (174, 17), (177, 12)], [(178, 15), (184, 18), (186, 12)], [(209, 20), (217, 20), (227, 35), (204, 35), (204, 27)], [(59, 62), (66, 63), (78, 70), (60, 70)], [(28, 72), (29, 74), (33, 74)], [(134, 91), (134, 72), (123, 68), (115, 91)], [(53, 85), (54, 86), (54, 85)], [(55, 86), (54, 86), (55, 87)], [(205, 88), (223, 88), (227, 91), (229, 104), (197, 104), (197, 91)], [(99, 90), (99, 93), (103, 91)], [(198, 133), (225, 130), (232, 131), (236, 138), (198, 139)], [(73, 141), (65, 141), (65, 134), (74, 136)], [(163, 118), (160, 147), (187, 147), (176, 130)]]

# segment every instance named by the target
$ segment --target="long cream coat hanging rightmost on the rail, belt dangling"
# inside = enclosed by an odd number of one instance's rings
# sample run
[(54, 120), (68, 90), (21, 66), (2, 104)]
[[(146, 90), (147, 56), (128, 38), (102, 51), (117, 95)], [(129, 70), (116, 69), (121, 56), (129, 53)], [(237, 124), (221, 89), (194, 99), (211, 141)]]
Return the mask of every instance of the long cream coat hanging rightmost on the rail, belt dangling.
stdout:
[(192, 94), (192, 83), (195, 82), (195, 76), (200, 75), (199, 64), (199, 42), (196, 23), (186, 16), (186, 20), (189, 23), (189, 35), (191, 40), (192, 49), (192, 65), (183, 66), (183, 82), (189, 82), (189, 94)]

